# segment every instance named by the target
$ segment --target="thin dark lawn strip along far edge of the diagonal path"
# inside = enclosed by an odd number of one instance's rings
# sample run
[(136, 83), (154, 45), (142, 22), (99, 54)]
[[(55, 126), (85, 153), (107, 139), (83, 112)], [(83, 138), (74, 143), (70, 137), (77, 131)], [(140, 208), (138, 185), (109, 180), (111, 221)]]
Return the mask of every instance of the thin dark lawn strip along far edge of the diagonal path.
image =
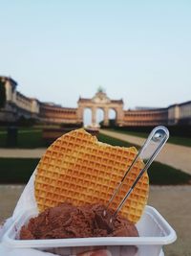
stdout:
[[(147, 138), (149, 133), (146, 132), (138, 132), (138, 131), (130, 131), (130, 130), (120, 130), (120, 129), (114, 129), (111, 128), (109, 129), (111, 131), (116, 131), (119, 133), (123, 133), (123, 134), (128, 134), (128, 135), (133, 135), (133, 136), (138, 136), (141, 138)], [(172, 144), (177, 144), (177, 145), (182, 145), (182, 146), (186, 146), (186, 147), (191, 147), (191, 138), (186, 138), (186, 137), (179, 137), (179, 136), (171, 136), (168, 139), (169, 143)]]

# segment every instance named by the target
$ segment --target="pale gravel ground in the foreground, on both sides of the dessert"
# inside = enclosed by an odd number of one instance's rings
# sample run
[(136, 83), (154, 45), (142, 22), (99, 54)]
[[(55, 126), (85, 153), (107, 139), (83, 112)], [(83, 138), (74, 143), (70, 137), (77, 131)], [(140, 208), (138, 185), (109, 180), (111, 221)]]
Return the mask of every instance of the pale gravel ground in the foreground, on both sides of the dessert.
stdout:
[[(0, 221), (11, 216), (22, 185), (0, 185)], [(165, 245), (165, 256), (191, 255), (191, 186), (151, 186), (149, 203), (176, 230), (178, 240)]]

